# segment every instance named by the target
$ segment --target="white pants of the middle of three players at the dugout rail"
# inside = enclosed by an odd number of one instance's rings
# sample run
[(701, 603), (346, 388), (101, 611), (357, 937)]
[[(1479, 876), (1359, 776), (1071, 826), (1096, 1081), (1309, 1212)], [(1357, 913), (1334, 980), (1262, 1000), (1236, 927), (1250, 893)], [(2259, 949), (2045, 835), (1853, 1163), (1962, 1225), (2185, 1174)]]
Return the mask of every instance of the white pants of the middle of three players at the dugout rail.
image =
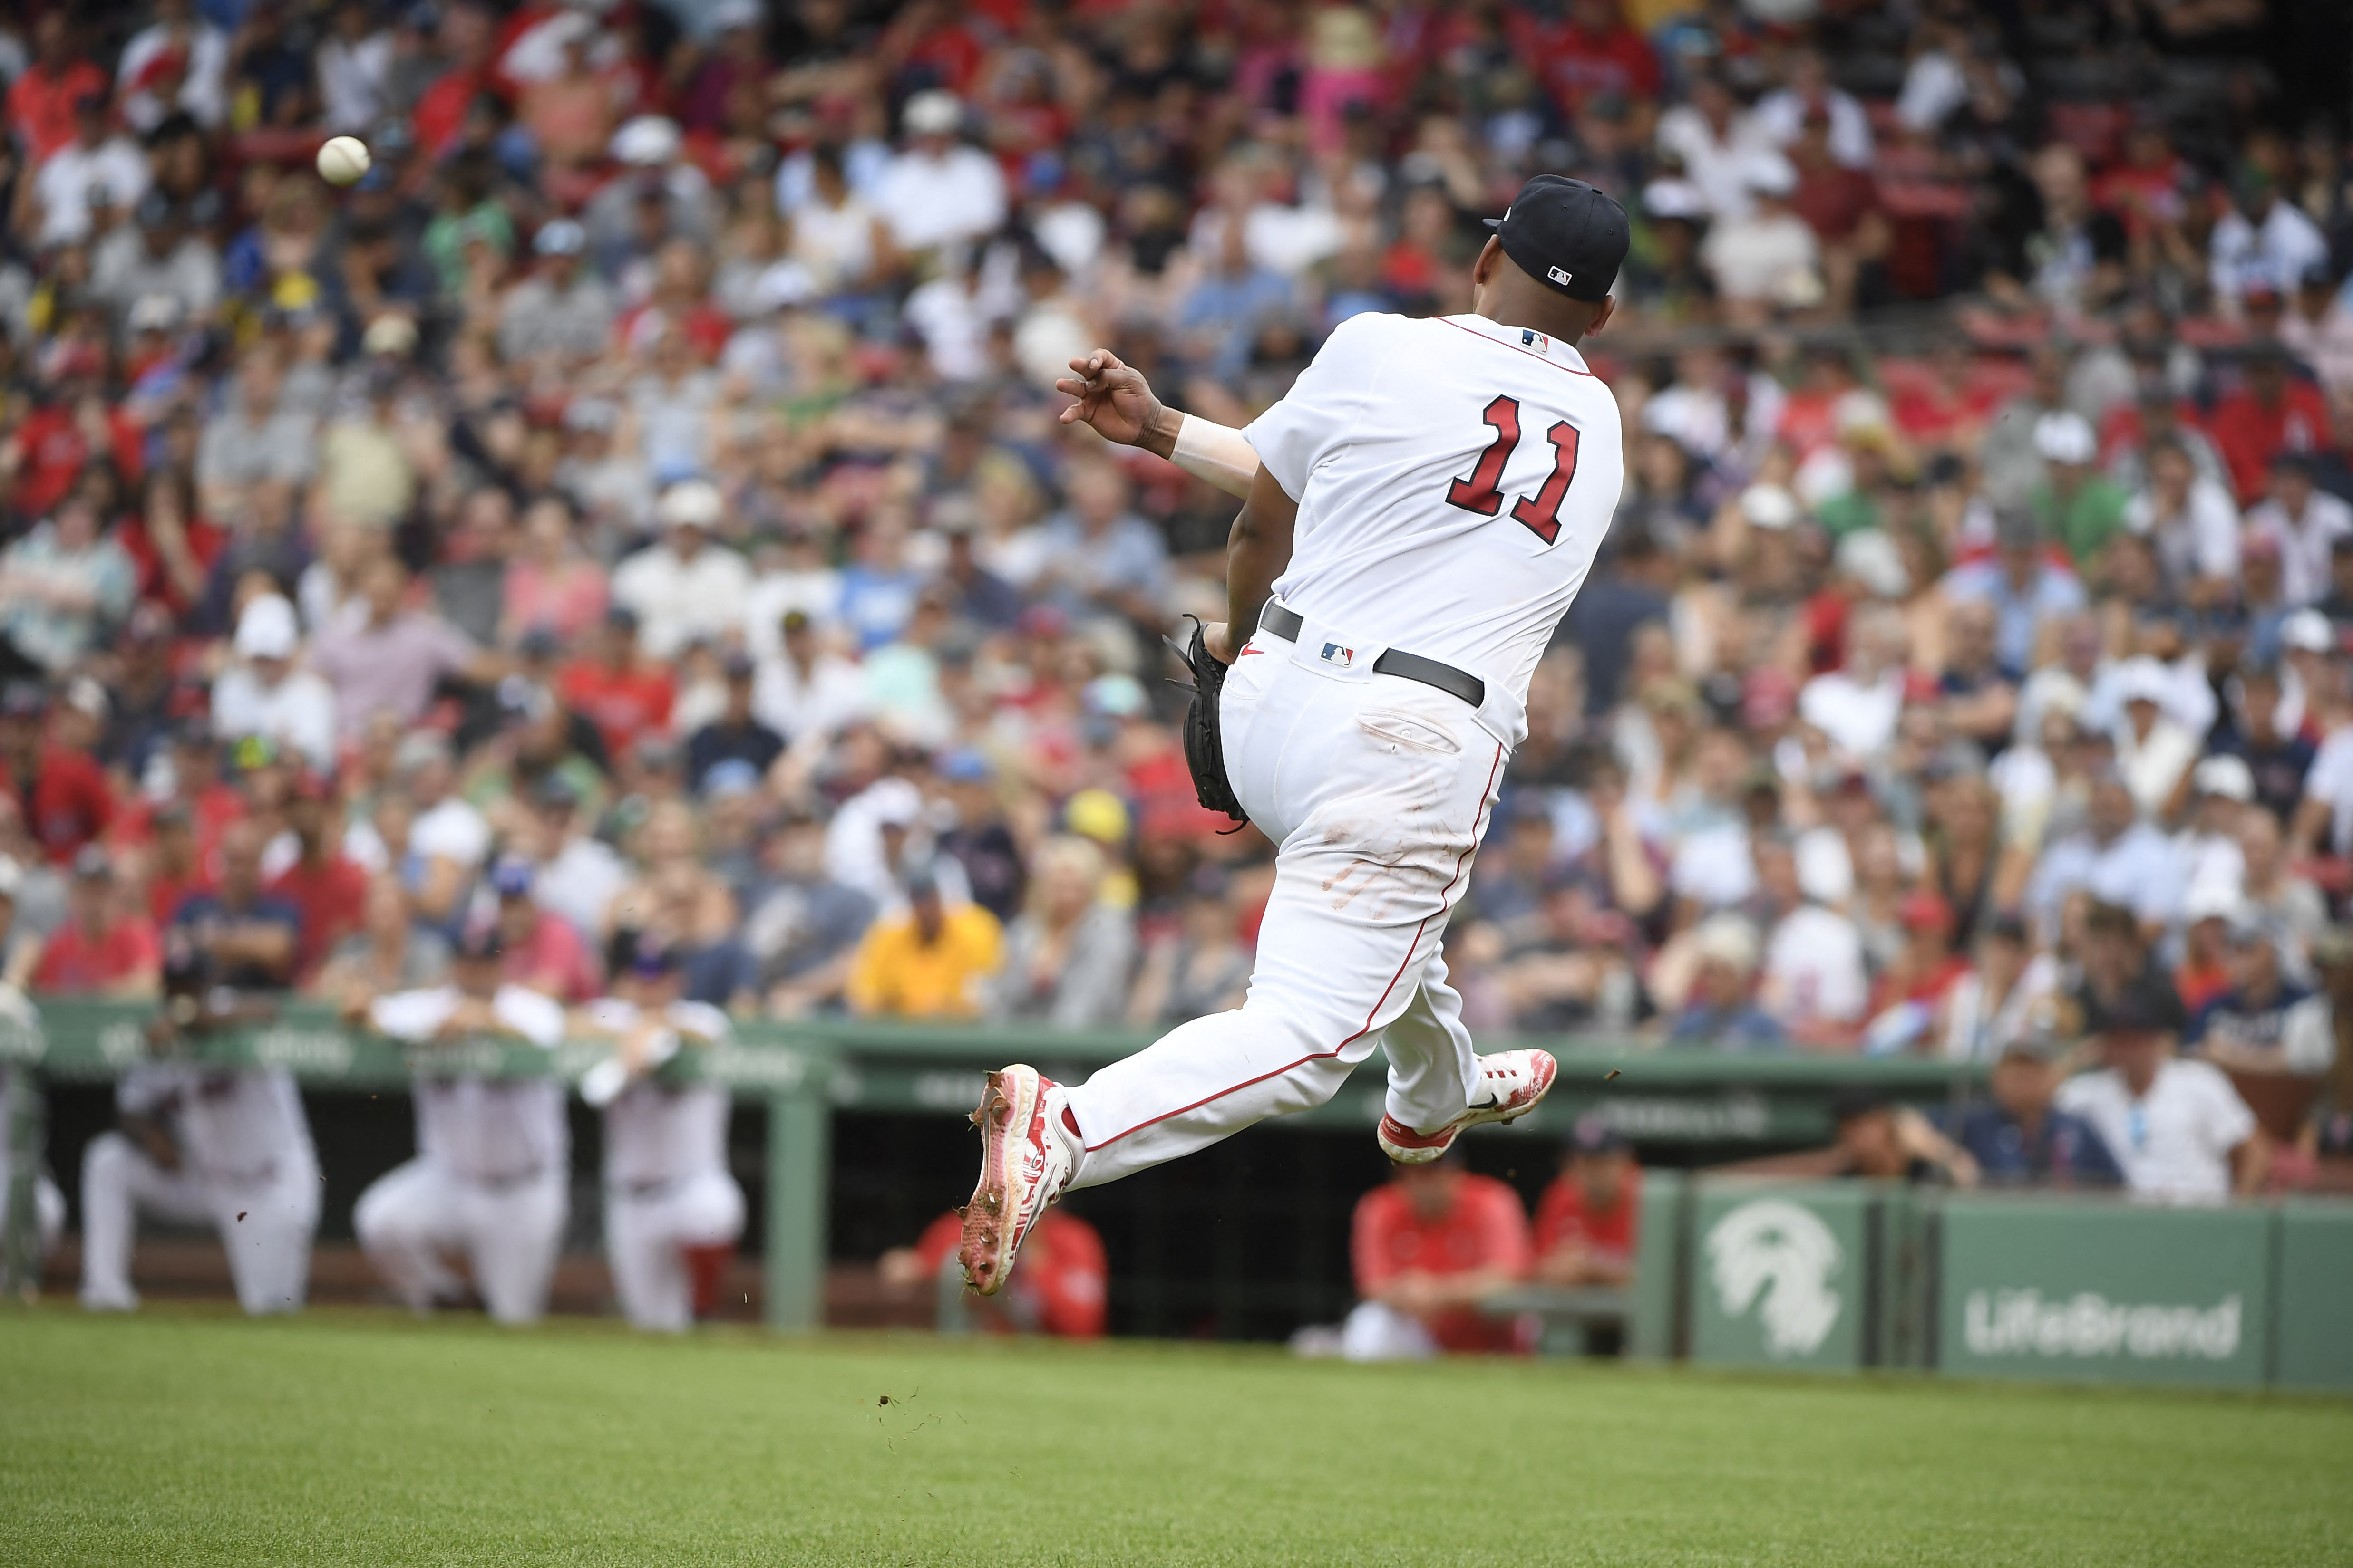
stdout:
[(473, 1288), (496, 1324), (536, 1324), (548, 1309), (572, 1197), (565, 1171), (485, 1182), (412, 1159), (379, 1175), (351, 1211), (367, 1260), (414, 1312), (459, 1291), (445, 1253), (466, 1253)]

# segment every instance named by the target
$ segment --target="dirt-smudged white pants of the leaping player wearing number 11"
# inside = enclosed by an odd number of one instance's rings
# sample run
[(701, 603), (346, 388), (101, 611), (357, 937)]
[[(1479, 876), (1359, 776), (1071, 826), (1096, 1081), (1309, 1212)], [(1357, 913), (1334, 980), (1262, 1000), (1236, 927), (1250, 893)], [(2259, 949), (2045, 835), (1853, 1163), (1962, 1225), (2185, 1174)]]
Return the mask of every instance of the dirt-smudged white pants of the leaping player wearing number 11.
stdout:
[(1405, 1126), (1435, 1131), (1468, 1107), (1478, 1056), (1440, 940), (1506, 748), (1459, 698), (1374, 675), (1377, 654), (1311, 621), (1297, 644), (1259, 630), (1226, 675), (1226, 776), (1280, 846), (1259, 966), (1238, 1011), (1184, 1023), (1071, 1091), (1085, 1143), (1073, 1187), (1322, 1105), (1374, 1046)]

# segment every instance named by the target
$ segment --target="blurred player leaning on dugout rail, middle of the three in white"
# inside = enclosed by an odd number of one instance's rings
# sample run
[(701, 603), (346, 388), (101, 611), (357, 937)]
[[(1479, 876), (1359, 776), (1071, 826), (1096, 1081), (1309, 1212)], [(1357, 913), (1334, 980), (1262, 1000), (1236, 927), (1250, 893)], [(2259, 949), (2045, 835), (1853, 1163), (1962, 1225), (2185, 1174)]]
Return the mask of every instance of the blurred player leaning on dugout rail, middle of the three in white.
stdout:
[[(496, 929), (459, 938), (449, 985), (395, 992), (369, 1023), (416, 1046), (506, 1037), (555, 1048), (565, 1011), (499, 980)], [(351, 1213), (367, 1260), (416, 1312), (456, 1298), (442, 1253), (464, 1251), (499, 1324), (548, 1309), (548, 1281), (569, 1213), (572, 1133), (565, 1086), (541, 1079), (416, 1074), (416, 1159), (379, 1175)]]

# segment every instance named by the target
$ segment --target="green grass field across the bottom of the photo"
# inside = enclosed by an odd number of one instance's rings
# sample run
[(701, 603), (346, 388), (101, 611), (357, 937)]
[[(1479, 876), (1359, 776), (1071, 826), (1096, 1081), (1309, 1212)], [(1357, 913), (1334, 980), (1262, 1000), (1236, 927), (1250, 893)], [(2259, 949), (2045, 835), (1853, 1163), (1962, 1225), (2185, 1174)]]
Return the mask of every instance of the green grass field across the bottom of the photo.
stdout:
[(0, 1563), (2329, 1561), (2332, 1401), (0, 1312)]

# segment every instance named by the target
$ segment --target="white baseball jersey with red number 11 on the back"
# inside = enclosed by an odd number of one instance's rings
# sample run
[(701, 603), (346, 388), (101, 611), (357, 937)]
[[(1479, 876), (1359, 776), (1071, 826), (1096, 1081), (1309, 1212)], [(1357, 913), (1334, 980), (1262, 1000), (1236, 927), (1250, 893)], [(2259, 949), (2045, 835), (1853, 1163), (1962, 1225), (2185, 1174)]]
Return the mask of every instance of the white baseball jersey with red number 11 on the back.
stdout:
[(1584, 355), (1480, 315), (1353, 315), (1242, 435), (1299, 503), (1275, 597), (1478, 675), (1518, 745), (1624, 480), (1617, 397)]

